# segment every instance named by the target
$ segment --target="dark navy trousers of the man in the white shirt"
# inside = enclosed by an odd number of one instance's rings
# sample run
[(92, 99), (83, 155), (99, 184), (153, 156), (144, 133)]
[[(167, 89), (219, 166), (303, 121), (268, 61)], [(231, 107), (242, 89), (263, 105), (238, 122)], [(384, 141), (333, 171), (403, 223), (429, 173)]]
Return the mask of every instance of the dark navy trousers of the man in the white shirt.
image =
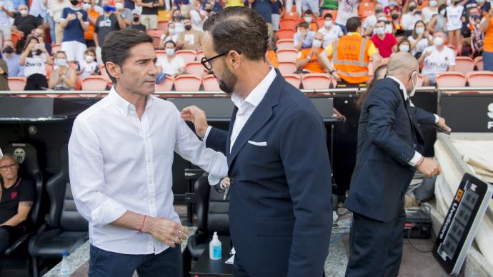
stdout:
[(130, 255), (104, 251), (92, 246), (89, 250), (89, 277), (139, 276), (181, 277), (181, 248), (168, 248), (154, 255)]

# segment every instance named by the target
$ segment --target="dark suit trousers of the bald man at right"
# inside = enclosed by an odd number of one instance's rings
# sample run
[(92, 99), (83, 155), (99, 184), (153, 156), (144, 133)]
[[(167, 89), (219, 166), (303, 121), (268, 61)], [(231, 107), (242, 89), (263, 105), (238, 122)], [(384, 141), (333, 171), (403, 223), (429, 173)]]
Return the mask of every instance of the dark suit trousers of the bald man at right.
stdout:
[(347, 277), (395, 277), (402, 261), (404, 208), (389, 222), (353, 213)]

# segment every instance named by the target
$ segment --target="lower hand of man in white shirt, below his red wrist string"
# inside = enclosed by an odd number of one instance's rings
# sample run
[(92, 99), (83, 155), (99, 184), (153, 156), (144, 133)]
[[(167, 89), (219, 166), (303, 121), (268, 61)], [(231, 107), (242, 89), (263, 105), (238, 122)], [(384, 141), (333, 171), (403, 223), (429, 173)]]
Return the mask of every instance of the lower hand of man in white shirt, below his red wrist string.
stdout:
[(189, 234), (189, 231), (180, 223), (157, 217), (148, 217), (142, 232), (149, 233), (153, 238), (166, 243), (171, 248), (175, 248), (175, 244), (181, 244), (181, 241), (185, 240), (186, 235)]

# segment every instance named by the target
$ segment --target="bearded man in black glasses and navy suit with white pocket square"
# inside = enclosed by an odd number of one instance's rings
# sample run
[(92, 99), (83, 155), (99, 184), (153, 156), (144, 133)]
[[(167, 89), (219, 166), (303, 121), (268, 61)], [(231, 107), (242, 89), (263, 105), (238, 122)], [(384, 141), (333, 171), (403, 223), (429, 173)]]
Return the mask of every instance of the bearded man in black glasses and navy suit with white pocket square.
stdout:
[[(208, 128), (204, 111), (182, 111), (229, 164), (234, 276), (322, 276), (332, 229), (324, 122), (312, 101), (265, 57), (267, 24), (234, 6), (204, 23), (204, 66), (235, 104), (229, 131)], [(234, 181), (233, 181), (234, 180)]]

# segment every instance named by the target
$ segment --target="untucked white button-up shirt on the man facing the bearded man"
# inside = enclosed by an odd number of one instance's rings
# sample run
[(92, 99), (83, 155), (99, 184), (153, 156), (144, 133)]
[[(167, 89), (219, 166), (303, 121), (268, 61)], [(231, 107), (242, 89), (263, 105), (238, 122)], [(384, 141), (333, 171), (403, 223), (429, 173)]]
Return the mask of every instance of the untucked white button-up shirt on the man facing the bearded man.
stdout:
[[(173, 153), (226, 176), (226, 157), (205, 147), (169, 101), (149, 96), (141, 119), (112, 88), (77, 116), (69, 141), (71, 191), (89, 221), (93, 246), (125, 254), (161, 253), (169, 246), (146, 233), (110, 223), (126, 211), (180, 222), (173, 208)], [(215, 179), (215, 180), (212, 180)]]

